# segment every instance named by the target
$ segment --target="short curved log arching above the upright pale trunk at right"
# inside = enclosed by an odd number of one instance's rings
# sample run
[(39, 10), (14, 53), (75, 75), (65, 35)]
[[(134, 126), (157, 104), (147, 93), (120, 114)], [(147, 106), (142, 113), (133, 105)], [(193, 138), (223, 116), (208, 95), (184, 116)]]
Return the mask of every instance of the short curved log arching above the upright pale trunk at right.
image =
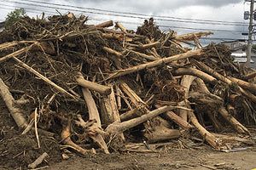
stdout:
[(173, 74), (176, 76), (191, 75), (194, 77), (200, 77), (202, 80), (209, 82), (213, 85), (218, 82), (216, 78), (195, 68), (178, 68), (177, 70), (173, 71)]

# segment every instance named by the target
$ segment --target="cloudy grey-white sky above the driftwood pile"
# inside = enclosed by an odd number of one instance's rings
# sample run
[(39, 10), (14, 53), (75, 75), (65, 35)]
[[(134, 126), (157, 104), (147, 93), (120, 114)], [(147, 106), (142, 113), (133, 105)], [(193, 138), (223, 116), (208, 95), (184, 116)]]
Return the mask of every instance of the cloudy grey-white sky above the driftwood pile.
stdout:
[(90, 24), (113, 20), (136, 30), (143, 20), (154, 16), (163, 31), (172, 29), (183, 34), (210, 30), (214, 32), (212, 37), (247, 38), (241, 36), (248, 29), (243, 14), (249, 10), (249, 3), (244, 0), (0, 0), (0, 4), (0, 20), (14, 8), (25, 8), (30, 16), (43, 11), (57, 14), (57, 9), (61, 14), (70, 11), (88, 15)]

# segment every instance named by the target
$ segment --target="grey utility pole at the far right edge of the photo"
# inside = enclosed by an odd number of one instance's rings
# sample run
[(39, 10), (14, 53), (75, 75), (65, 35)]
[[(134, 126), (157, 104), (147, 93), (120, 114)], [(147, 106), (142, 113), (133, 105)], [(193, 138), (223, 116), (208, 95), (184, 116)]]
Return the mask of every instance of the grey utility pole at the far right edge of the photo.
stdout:
[(254, 10), (254, 0), (251, 0), (250, 7), (250, 22), (249, 22), (249, 34), (248, 34), (248, 45), (247, 45), (247, 67), (250, 66), (252, 58), (252, 46), (253, 46), (253, 10)]

